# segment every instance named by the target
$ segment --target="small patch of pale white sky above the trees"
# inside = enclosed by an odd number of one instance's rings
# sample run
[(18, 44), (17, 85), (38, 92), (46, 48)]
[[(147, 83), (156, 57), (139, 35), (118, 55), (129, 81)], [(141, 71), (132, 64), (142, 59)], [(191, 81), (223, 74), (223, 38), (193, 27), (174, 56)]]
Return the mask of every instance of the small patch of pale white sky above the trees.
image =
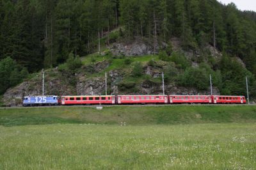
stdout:
[(235, 3), (239, 10), (251, 10), (256, 12), (256, 0), (218, 0), (223, 4)]

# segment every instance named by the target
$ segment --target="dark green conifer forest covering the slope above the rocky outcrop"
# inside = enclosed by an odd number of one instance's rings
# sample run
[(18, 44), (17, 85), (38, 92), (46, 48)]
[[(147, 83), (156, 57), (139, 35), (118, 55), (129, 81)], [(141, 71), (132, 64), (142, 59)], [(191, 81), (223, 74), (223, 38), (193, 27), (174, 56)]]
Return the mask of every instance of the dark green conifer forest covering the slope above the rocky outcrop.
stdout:
[[(212, 70), (220, 72), (224, 92), (236, 93), (236, 84), (230, 80), (240, 83), (245, 75), (251, 84), (255, 83), (256, 14), (237, 10), (234, 3), (0, 0), (0, 79), (5, 81), (0, 83), (0, 93), (20, 82), (9, 82), (8, 77), (15, 75), (13, 80), (20, 80), (28, 73), (56, 67), (67, 61), (70, 52), (76, 58), (97, 52), (103, 36), (107, 36), (106, 45), (113, 43), (109, 37), (113, 29), (118, 29), (120, 40), (128, 43), (140, 37), (155, 47), (159, 42), (169, 44), (170, 38), (179, 37), (182, 48), (193, 51), (210, 44), (224, 54), (219, 65), (211, 65)], [(232, 63), (232, 57), (240, 58), (246, 69)], [(181, 84), (186, 86), (186, 75), (196, 72), (195, 68), (184, 69)]]

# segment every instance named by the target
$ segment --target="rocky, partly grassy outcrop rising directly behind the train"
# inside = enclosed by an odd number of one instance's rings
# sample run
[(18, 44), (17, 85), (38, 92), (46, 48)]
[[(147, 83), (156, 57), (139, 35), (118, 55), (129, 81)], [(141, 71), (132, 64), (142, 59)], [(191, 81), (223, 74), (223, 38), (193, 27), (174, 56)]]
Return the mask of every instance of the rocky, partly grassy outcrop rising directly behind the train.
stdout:
[[(207, 45), (204, 51), (184, 51), (180, 48), (179, 38), (172, 39), (172, 53), (177, 52), (185, 56), (189, 65), (198, 68), (199, 63), (195, 58), (200, 58), (205, 51), (216, 62), (220, 61), (222, 54)], [(157, 48), (168, 48), (162, 44)], [(159, 59), (160, 55), (153, 55), (154, 48), (140, 40), (133, 43), (114, 43), (102, 54), (92, 54), (81, 58), (83, 66), (74, 73), (65, 72), (60, 68), (45, 70), (45, 95), (104, 95), (104, 75), (108, 75), (108, 94), (162, 94), (161, 73), (170, 75), (170, 69), (175, 73), (184, 70), (173, 61)], [(208, 59), (205, 58), (205, 62)], [(165, 61), (164, 61), (165, 60)], [(142, 75), (133, 76), (134, 65), (141, 63)], [(173, 72), (173, 71), (172, 71)], [(167, 75), (168, 74), (168, 75)], [(209, 94), (209, 88), (198, 89), (195, 87), (182, 87), (172, 77), (165, 83), (166, 94), (195, 95)], [(209, 84), (209, 82), (206, 82)], [(214, 87), (214, 94), (219, 94), (218, 87)], [(15, 88), (10, 88), (3, 95), (5, 105), (20, 105), (22, 97), (27, 95), (42, 95), (42, 72), (24, 81)]]

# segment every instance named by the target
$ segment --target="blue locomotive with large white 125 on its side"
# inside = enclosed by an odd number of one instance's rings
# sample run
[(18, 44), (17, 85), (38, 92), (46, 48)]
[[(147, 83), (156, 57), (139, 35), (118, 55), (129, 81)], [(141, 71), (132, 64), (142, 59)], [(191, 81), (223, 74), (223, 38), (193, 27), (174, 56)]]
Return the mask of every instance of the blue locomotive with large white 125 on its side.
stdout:
[(58, 96), (29, 96), (24, 97), (23, 106), (33, 105), (58, 105), (60, 99)]

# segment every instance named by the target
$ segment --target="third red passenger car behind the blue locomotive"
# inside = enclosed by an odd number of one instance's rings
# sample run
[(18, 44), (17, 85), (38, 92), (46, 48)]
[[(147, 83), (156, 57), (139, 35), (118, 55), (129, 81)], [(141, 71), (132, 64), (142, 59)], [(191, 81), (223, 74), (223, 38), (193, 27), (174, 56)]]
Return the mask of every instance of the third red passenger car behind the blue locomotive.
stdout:
[(170, 104), (211, 104), (209, 95), (170, 95)]

